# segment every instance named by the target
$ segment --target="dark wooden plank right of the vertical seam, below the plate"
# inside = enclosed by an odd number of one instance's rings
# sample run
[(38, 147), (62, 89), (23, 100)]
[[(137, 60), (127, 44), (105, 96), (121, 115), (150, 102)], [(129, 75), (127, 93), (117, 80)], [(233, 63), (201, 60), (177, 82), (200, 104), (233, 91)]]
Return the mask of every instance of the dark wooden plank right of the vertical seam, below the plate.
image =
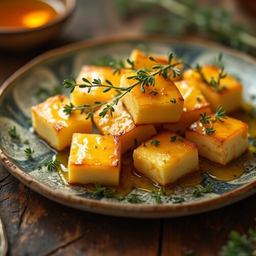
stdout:
[(215, 256), (228, 240), (231, 230), (247, 232), (254, 227), (256, 195), (222, 209), (195, 216), (164, 220), (162, 255)]

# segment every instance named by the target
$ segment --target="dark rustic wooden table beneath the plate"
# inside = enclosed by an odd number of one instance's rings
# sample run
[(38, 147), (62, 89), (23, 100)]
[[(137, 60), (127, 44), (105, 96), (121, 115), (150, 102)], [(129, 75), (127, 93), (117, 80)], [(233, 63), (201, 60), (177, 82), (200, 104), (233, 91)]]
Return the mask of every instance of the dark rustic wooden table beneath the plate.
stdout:
[[(121, 23), (106, 3), (80, 0), (66, 29), (45, 46), (23, 55), (0, 53), (0, 84), (48, 49), (96, 35), (140, 32), (140, 18)], [(254, 226), (255, 201), (256, 195), (205, 214), (164, 220), (101, 216), (36, 194), (0, 163), (0, 215), (11, 255), (184, 255), (190, 249), (195, 255), (217, 255), (230, 230), (246, 232)]]

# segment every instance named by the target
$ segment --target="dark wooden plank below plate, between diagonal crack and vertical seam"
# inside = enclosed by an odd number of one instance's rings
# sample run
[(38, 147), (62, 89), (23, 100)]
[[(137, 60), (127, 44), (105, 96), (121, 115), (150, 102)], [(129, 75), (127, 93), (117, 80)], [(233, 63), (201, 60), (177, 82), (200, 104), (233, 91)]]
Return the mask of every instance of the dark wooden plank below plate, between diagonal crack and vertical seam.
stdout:
[(159, 220), (111, 218), (52, 255), (158, 255)]

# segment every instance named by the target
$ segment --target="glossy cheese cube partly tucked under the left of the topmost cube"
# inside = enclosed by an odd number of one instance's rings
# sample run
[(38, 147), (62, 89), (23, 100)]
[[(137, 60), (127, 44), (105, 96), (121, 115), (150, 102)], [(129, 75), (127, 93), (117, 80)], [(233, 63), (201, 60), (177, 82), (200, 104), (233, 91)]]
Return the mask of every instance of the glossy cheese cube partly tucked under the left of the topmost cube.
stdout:
[(101, 134), (120, 136), (122, 154), (134, 150), (142, 141), (157, 133), (153, 124), (136, 125), (121, 101), (114, 107), (113, 117), (110, 113), (104, 117), (99, 116), (99, 113), (105, 108), (102, 106), (94, 113), (93, 120)]

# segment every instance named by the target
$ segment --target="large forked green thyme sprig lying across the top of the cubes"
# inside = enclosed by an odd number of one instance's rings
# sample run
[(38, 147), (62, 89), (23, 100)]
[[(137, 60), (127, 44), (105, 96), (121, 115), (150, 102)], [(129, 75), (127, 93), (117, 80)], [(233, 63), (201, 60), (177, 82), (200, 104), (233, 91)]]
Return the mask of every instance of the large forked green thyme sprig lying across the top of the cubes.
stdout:
[[(157, 62), (153, 57), (149, 57), (151, 60)], [(100, 79), (94, 79), (92, 82), (90, 82), (86, 78), (82, 78), (85, 84), (77, 84), (75, 78), (71, 75), (71, 80), (70, 79), (65, 79), (63, 81), (63, 87), (67, 88), (70, 90), (70, 93), (73, 93), (75, 90), (75, 87), (79, 88), (88, 88), (88, 93), (90, 93), (91, 89), (93, 87), (103, 87), (105, 88), (103, 90), (104, 93), (109, 92), (110, 90), (118, 90), (119, 94), (114, 97), (110, 101), (105, 101), (105, 102), (99, 102), (96, 101), (95, 105), (89, 105), (89, 104), (84, 104), (80, 106), (74, 106), (72, 103), (70, 105), (65, 105), (64, 107), (64, 112), (67, 115), (71, 115), (74, 111), (80, 110), (81, 113), (83, 113), (86, 110), (89, 110), (90, 112), (87, 115), (88, 118), (93, 117), (93, 111), (97, 108), (99, 108), (102, 105), (105, 105), (105, 108), (100, 112), (99, 116), (104, 117), (109, 111), (111, 116), (113, 116), (113, 112), (115, 111), (114, 106), (118, 104), (119, 100), (125, 96), (127, 93), (130, 93), (133, 88), (138, 86), (140, 84), (140, 90), (142, 93), (145, 93), (145, 87), (154, 87), (155, 86), (155, 76), (159, 75), (164, 77), (165, 79), (168, 78), (170, 75), (169, 71), (172, 70), (172, 75), (175, 78), (176, 76), (180, 76), (180, 70), (178, 68), (175, 68), (177, 65), (183, 63), (182, 60), (176, 62), (176, 63), (171, 63), (173, 59), (173, 53), (168, 54), (168, 64), (167, 65), (161, 65), (160, 63), (157, 63), (157, 65), (153, 66), (153, 72), (149, 73), (148, 71), (145, 70), (138, 70), (136, 71), (135, 75), (127, 77), (127, 79), (134, 79), (135, 82), (128, 87), (124, 88), (119, 88), (119, 87), (114, 87), (112, 82), (109, 80), (105, 80), (105, 83), (102, 83)]]

